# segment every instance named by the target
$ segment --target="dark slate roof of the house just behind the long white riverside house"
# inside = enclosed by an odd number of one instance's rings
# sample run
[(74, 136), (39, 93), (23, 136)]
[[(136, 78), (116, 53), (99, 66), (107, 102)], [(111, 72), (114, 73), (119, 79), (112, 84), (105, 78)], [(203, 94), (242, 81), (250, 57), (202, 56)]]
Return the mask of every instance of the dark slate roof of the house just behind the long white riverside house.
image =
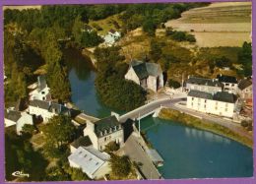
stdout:
[(217, 80), (207, 79), (207, 78), (198, 78), (198, 77), (189, 77), (186, 83), (196, 84), (201, 86), (223, 87), (223, 84)]

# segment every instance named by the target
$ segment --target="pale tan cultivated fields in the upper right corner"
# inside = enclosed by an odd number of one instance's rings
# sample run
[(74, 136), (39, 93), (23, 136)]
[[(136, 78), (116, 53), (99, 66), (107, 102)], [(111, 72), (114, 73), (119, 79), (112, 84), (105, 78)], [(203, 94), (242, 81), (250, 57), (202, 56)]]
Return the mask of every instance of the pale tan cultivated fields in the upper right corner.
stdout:
[(191, 9), (178, 20), (165, 24), (177, 31), (189, 31), (201, 47), (241, 46), (251, 41), (251, 3), (213, 3)]

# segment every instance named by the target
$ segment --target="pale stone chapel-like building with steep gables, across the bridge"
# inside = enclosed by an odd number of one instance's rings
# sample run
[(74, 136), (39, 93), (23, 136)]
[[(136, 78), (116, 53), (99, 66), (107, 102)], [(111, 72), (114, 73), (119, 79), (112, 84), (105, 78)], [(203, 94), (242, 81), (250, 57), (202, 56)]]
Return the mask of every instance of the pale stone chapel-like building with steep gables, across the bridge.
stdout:
[(132, 61), (125, 74), (126, 80), (131, 80), (144, 89), (158, 92), (163, 87), (163, 76), (160, 64)]

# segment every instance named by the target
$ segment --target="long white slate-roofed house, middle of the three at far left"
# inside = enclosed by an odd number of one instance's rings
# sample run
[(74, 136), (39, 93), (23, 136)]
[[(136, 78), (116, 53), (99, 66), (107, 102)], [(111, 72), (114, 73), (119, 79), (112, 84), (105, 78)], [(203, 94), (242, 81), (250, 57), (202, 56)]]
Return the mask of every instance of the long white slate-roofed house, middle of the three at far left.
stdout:
[(47, 123), (54, 115), (71, 115), (70, 109), (62, 104), (38, 99), (30, 101), (29, 112), (37, 117), (41, 117), (44, 123)]

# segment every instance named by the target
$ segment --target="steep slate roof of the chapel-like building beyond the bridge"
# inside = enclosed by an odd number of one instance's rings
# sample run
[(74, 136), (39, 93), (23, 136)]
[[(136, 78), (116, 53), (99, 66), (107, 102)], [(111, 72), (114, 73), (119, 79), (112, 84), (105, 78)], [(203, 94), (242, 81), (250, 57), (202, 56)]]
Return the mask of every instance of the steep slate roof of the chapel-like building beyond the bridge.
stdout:
[(157, 77), (160, 70), (160, 65), (157, 63), (145, 63), (142, 61), (132, 61), (131, 66), (140, 80), (149, 76)]

